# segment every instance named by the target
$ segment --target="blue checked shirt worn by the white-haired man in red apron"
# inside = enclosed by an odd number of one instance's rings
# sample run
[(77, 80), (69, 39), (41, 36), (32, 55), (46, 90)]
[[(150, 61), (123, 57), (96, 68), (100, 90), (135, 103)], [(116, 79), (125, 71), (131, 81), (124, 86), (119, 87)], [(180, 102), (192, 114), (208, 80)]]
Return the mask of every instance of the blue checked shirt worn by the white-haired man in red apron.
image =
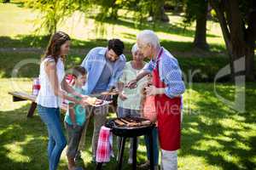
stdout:
[[(170, 98), (183, 94), (185, 85), (177, 59), (175, 59), (166, 48), (163, 48), (163, 52), (158, 60), (160, 80), (166, 84), (165, 94)], [(156, 67), (156, 62), (156, 58), (151, 59), (143, 69), (152, 72)]]

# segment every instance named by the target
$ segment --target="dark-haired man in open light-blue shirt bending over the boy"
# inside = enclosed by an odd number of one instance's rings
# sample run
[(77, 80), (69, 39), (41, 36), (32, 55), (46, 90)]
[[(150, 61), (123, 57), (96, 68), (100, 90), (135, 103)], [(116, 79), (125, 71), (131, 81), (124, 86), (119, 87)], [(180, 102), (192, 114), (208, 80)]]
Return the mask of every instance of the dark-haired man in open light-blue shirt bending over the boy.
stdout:
[[(99, 95), (102, 92), (113, 89), (125, 67), (125, 55), (123, 54), (125, 45), (119, 39), (108, 41), (108, 47), (93, 48), (86, 55), (82, 66), (88, 72), (85, 84), (85, 92), (88, 95), (98, 95), (100, 99), (108, 99), (109, 96)], [(92, 137), (92, 161), (96, 161), (96, 148), (99, 133), (102, 125), (107, 121), (108, 105), (100, 107), (89, 107), (87, 115), (94, 116), (94, 131)], [(85, 133), (89, 119), (84, 126), (84, 133), (81, 137), (79, 150), (84, 149)], [(80, 152), (78, 152), (80, 153)], [(79, 156), (79, 154), (78, 154)], [(78, 158), (77, 156), (77, 158)]]

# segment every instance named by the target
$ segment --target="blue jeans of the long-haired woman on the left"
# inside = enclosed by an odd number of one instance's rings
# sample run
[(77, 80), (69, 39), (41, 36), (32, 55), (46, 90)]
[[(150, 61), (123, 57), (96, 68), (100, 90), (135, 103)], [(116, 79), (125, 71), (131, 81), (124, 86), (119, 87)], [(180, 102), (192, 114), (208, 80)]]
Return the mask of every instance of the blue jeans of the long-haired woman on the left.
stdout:
[(61, 128), (60, 110), (59, 108), (49, 108), (38, 105), (38, 114), (45, 123), (49, 135), (49, 170), (56, 170), (60, 161), (61, 152), (67, 144), (67, 140)]

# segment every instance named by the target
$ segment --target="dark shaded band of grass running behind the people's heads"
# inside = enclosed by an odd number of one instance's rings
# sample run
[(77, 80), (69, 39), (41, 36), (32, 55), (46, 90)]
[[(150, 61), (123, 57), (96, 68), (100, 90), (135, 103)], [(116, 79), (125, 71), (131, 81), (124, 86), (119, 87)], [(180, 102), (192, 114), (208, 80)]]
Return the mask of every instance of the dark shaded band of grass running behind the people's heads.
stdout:
[[(131, 36), (131, 35), (127, 35)], [(11, 77), (15, 65), (23, 62), (24, 59), (38, 59), (44, 55), (49, 37), (45, 36), (18, 36), (18, 37), (0, 37), (0, 77)], [(67, 69), (73, 65), (80, 65), (90, 48), (107, 47), (106, 39), (93, 39), (82, 41), (72, 40), (71, 51), (67, 56)], [(196, 51), (191, 42), (161, 41), (162, 46), (167, 48), (175, 57), (178, 58), (180, 65), (187, 73), (190, 69), (201, 69), (207, 75), (204, 77), (195, 77), (197, 81), (212, 81), (219, 68), (228, 63), (222, 46), (212, 44), (212, 51)], [(125, 56), (131, 60), (130, 42), (125, 42)], [(208, 65), (211, 65), (210, 68)], [(38, 77), (38, 64), (26, 64), (20, 68), (18, 77)]]

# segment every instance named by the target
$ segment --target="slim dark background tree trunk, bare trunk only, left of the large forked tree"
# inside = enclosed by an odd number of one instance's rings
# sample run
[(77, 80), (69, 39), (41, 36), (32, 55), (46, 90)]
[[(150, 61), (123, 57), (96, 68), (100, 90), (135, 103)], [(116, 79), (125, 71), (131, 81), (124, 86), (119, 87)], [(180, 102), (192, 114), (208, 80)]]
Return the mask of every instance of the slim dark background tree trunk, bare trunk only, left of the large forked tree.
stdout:
[(207, 44), (207, 3), (204, 4), (203, 11), (196, 15), (195, 39), (196, 48), (208, 49)]

